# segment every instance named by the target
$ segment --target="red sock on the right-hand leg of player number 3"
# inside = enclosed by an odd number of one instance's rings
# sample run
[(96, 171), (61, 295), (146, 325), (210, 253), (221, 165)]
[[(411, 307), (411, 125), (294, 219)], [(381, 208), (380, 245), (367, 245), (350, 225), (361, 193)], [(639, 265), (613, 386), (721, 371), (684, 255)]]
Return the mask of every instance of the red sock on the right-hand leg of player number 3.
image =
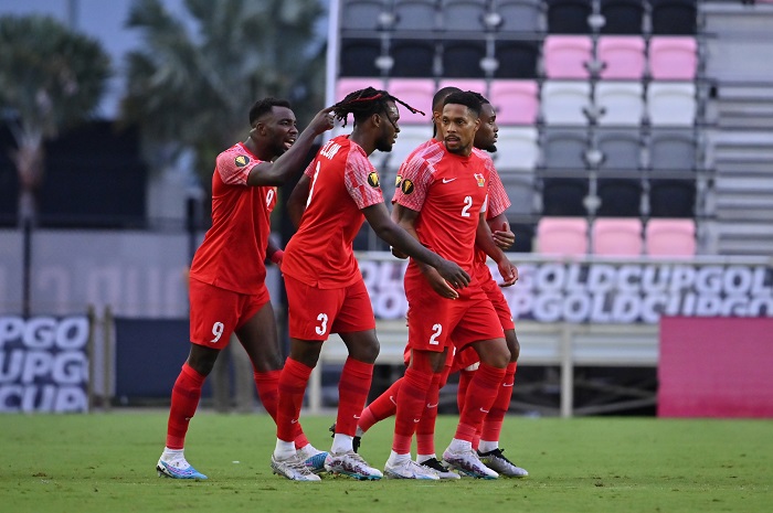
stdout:
[(357, 421), (368, 400), (373, 380), (373, 364), (348, 357), (338, 382), (338, 417), (336, 432), (353, 437)]

